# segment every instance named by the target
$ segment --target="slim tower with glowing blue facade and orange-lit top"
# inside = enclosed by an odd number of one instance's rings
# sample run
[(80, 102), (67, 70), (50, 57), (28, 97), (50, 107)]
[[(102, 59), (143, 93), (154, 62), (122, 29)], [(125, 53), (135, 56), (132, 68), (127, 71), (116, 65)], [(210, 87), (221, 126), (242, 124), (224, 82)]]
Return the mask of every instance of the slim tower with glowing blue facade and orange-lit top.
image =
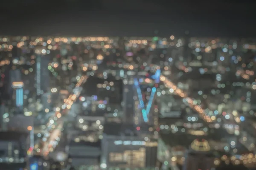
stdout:
[(12, 88), (16, 91), (16, 107), (17, 107), (17, 113), (23, 112), (23, 82), (13, 82)]

